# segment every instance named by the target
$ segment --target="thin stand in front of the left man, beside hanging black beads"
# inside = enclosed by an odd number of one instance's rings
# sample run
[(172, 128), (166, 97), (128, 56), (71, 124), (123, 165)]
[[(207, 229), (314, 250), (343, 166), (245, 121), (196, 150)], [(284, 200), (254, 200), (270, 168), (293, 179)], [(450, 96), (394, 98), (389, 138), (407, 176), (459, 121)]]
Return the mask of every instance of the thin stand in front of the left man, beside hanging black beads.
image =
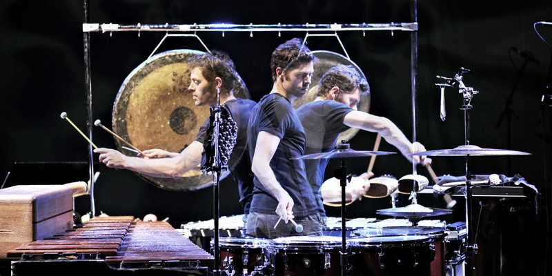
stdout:
[(220, 90), (217, 89), (217, 106), (213, 108), (215, 113), (215, 128), (213, 130), (213, 139), (215, 140), (215, 157), (213, 160), (213, 236), (215, 241), (213, 242), (214, 255), (215, 255), (215, 266), (213, 268), (213, 276), (221, 275), (220, 266), (220, 248), (219, 248), (219, 180), (221, 175), (221, 161), (219, 154), (219, 125), (222, 121), (221, 119), (221, 107), (220, 107)]

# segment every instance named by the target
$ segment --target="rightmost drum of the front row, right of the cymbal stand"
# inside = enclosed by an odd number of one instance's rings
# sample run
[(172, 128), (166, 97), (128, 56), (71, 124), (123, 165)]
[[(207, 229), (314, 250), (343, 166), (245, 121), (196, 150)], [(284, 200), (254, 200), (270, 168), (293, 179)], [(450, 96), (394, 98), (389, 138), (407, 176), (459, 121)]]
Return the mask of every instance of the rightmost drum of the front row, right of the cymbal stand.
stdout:
[(383, 236), (349, 239), (353, 275), (431, 275), (431, 237)]

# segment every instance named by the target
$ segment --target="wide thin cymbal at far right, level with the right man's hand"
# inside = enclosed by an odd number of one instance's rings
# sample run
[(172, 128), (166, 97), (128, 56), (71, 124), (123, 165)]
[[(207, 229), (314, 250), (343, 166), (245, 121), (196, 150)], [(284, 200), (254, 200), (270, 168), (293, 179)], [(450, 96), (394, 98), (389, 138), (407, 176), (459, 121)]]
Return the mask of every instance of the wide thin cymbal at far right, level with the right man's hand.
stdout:
[(457, 146), (446, 150), (428, 150), (411, 153), (408, 156), (493, 156), (493, 155), (531, 155), (528, 152), (517, 150), (500, 150), (496, 148), (480, 148), (473, 145)]

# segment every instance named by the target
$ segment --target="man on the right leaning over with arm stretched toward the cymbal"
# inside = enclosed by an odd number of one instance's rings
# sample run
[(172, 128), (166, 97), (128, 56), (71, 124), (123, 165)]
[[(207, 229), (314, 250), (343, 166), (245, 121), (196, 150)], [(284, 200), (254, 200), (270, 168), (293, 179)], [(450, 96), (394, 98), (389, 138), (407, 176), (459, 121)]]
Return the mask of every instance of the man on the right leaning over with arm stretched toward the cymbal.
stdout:
[[(431, 159), (425, 156), (408, 156), (413, 152), (425, 151), (426, 148), (418, 142), (411, 143), (391, 120), (357, 110), (361, 94), (367, 93), (369, 89), (366, 79), (361, 77), (353, 66), (339, 64), (324, 73), (319, 80), (314, 101), (297, 108), (297, 115), (306, 137), (305, 155), (329, 152), (335, 148), (341, 132), (349, 128), (360, 128), (379, 133), (389, 144), (400, 150), (408, 161), (415, 164), (431, 163)], [(328, 159), (305, 159), (308, 181), (313, 186), (313, 190), (320, 190), (324, 182), (326, 164)], [(369, 173), (370, 175), (365, 172), (360, 176), (365, 180), (364, 185), (351, 187), (356, 189), (353, 195), (361, 197), (368, 190), (370, 185), (368, 178), (373, 175)], [(340, 198), (340, 186), (336, 186), (335, 192), (336, 198)], [(324, 210), (322, 194), (318, 192), (316, 195), (319, 208)]]

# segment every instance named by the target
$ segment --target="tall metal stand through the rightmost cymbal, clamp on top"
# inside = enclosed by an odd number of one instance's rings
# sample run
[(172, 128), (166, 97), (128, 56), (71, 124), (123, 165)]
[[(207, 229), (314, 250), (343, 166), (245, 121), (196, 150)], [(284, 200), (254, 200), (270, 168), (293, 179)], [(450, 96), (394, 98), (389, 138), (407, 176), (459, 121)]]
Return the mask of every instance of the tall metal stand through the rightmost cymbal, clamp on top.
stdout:
[[(439, 79), (445, 79), (446, 83), (435, 83), (436, 86), (440, 86), (442, 89), (444, 86), (450, 86), (452, 88), (458, 88), (458, 92), (462, 93), (463, 104), (460, 107), (460, 110), (464, 110), (464, 142), (466, 145), (470, 144), (470, 110), (473, 108), (471, 105), (471, 99), (473, 95), (477, 94), (479, 91), (473, 90), (472, 87), (464, 86), (462, 82), (463, 75), (467, 72), (470, 72), (469, 69), (460, 67), (460, 70), (457, 72), (455, 77), (446, 78), (437, 76)], [(443, 90), (441, 90), (443, 91)], [(443, 93), (442, 93), (443, 94)], [(442, 98), (442, 104), (444, 104), (444, 97)], [(444, 116), (441, 117), (444, 120)], [(475, 244), (475, 239), (472, 242), (472, 190), (471, 190), (471, 161), (470, 155), (466, 155), (465, 158), (466, 165), (466, 194), (464, 198), (466, 199), (466, 275), (473, 275), (474, 268), (474, 257), (477, 254), (477, 244)]]

